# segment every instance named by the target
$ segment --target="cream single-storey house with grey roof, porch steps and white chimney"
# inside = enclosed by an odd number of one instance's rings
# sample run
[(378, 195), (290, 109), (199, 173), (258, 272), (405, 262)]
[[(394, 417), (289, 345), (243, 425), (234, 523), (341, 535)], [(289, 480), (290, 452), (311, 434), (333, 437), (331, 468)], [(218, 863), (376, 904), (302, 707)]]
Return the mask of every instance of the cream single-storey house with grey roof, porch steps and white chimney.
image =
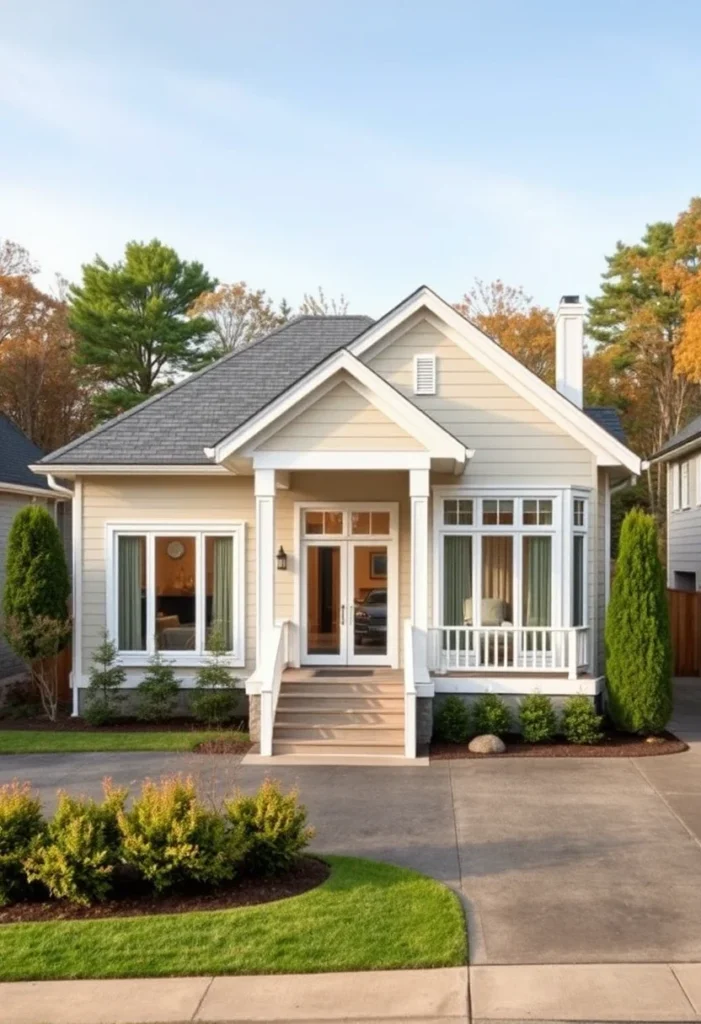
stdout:
[(641, 463), (581, 408), (583, 315), (557, 390), (428, 288), (301, 316), (42, 460), (75, 480), (76, 712), (105, 627), (129, 687), (157, 646), (191, 686), (215, 623), (264, 755), (413, 756), (434, 694), (601, 692)]

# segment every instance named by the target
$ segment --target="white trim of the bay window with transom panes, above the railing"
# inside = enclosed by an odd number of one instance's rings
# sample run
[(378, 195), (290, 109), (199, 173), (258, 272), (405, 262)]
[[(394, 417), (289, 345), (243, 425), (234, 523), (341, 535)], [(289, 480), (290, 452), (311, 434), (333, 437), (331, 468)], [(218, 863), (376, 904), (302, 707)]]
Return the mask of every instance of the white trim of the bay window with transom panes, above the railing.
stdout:
[[(445, 526), (443, 524), (443, 500), (445, 498), (472, 498), (474, 505), (474, 526)], [(482, 525), (482, 499), (514, 499), (513, 525)], [(550, 498), (553, 501), (553, 523), (551, 525), (523, 525), (523, 501), (528, 498)], [(584, 500), (584, 526), (572, 526), (572, 499)], [(473, 602), (479, 614), (481, 598), (481, 559), (483, 537), (514, 537), (514, 626), (519, 627), (522, 618), (522, 562), (523, 537), (550, 536), (553, 538), (553, 608), (552, 628), (569, 627), (572, 624), (572, 538), (574, 532), (584, 535), (584, 626), (589, 622), (589, 520), (592, 490), (575, 487), (543, 486), (493, 486), (468, 487), (440, 486), (433, 488), (433, 624), (443, 625), (443, 537), (465, 534), (473, 538)]]

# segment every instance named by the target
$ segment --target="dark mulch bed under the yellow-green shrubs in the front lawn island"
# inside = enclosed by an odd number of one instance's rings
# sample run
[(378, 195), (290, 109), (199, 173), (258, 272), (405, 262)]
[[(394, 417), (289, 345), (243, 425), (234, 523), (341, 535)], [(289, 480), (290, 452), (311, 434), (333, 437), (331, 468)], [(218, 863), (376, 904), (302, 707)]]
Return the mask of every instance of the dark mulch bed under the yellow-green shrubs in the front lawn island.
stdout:
[(316, 857), (300, 857), (287, 874), (278, 879), (242, 877), (224, 888), (211, 891), (169, 893), (155, 896), (150, 890), (124, 887), (114, 899), (93, 906), (75, 906), (52, 901), (28, 901), (0, 907), (0, 926), (45, 921), (93, 921), (98, 918), (140, 918), (154, 913), (189, 913), (192, 910), (230, 910), (301, 896), (325, 882), (331, 867)]

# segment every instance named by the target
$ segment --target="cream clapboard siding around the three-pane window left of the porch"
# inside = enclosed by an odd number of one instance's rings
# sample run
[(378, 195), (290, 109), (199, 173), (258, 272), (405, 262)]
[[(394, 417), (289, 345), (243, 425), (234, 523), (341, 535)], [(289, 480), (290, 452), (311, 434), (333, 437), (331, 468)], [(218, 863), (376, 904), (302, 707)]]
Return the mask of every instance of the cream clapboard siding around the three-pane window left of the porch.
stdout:
[[(85, 477), (83, 481), (83, 675), (105, 626), (105, 523), (247, 523), (246, 674), (255, 664), (255, 499), (251, 477)], [(244, 670), (240, 670), (244, 674)], [(184, 671), (180, 675), (187, 675)]]

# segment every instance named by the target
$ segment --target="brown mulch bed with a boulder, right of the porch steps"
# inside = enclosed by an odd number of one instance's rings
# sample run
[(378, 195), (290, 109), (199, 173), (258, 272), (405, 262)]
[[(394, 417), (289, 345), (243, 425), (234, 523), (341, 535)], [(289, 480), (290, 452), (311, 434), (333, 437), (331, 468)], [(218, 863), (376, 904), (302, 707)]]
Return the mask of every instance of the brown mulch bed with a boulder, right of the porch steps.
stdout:
[(648, 742), (628, 732), (609, 732), (601, 743), (594, 746), (568, 743), (558, 737), (552, 743), (526, 743), (518, 733), (502, 737), (507, 744), (505, 754), (473, 754), (467, 743), (432, 743), (432, 761), (453, 761), (470, 758), (657, 758), (664, 754), (682, 754), (689, 746), (671, 732), (660, 734), (659, 742)]

